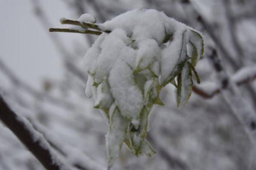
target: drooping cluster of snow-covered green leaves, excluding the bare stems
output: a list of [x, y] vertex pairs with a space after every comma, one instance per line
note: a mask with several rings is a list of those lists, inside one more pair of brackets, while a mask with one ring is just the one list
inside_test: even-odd
[[136, 156], [155, 154], [145, 140], [148, 114], [154, 104], [163, 105], [159, 93], [168, 83], [177, 87], [177, 106], [187, 103], [203, 39], [196, 30], [156, 10], [128, 11], [97, 26], [107, 33], [84, 56], [89, 73], [85, 92], [109, 125], [111, 169], [123, 143]]

